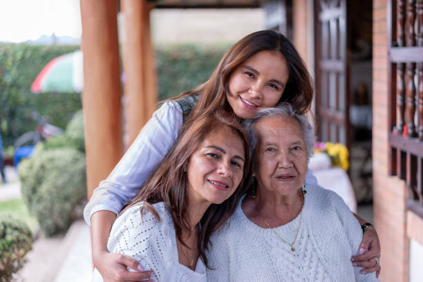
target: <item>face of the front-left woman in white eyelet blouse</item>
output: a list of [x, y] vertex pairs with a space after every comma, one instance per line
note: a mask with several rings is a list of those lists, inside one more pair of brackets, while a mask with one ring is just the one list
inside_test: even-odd
[[229, 198], [243, 178], [244, 145], [226, 126], [210, 131], [187, 165], [190, 200], [220, 204]]

